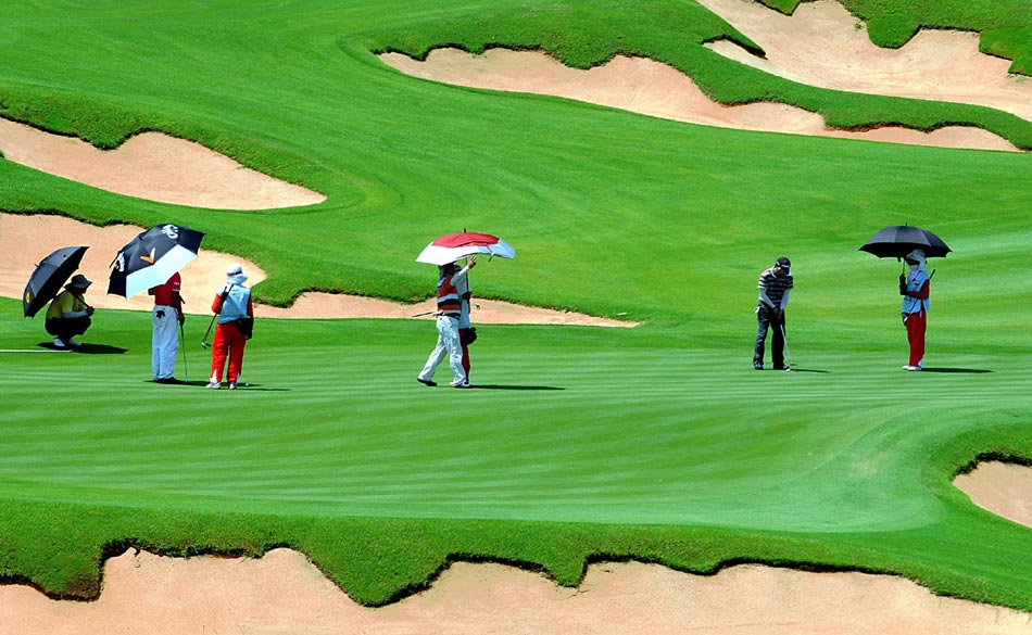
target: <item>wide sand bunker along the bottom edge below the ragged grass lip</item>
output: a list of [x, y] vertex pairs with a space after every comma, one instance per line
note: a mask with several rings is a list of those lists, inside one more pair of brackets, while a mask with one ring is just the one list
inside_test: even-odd
[[935, 597], [889, 576], [755, 566], [699, 576], [634, 562], [592, 566], [576, 589], [501, 564], [461, 562], [428, 590], [370, 609], [288, 549], [252, 560], [129, 550], [106, 562], [92, 602], [0, 587], [0, 635], [1003, 635], [1032, 632], [1030, 621], [1029, 613]]

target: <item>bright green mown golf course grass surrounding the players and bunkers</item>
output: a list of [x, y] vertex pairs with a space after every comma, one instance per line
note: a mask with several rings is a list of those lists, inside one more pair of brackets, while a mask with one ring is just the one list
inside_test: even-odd
[[[984, 109], [721, 66], [699, 46], [734, 37], [715, 16], [641, 7], [0, 7], [0, 115], [102, 147], [158, 129], [328, 195], [214, 212], [0, 161], [0, 209], [196, 227], [206, 247], [259, 262], [269, 279], [255, 292], [275, 304], [306, 289], [425, 297], [433, 270], [413, 259], [430, 238], [492, 231], [519, 253], [476, 270], [478, 295], [644, 322], [484, 326], [474, 382], [487, 388], [458, 393], [414, 381], [429, 322], [263, 320], [252, 385], [215, 393], [148, 383], [146, 316], [102, 312], [93, 355], [0, 354], [0, 576], [86, 596], [125, 545], [290, 545], [369, 604], [449, 558], [542, 567], [565, 584], [587, 559], [638, 558], [884, 571], [1032, 609], [1029, 530], [949, 484], [980, 456], [1032, 459], [1032, 157], [688, 126], [420, 81], [373, 54], [456, 42], [578, 63], [654, 53], [715, 90], [725, 75], [731, 99], [796, 91], [842, 120], [980, 117], [1018, 142], [1029, 134]], [[856, 251], [903, 223], [955, 250], [932, 262], [937, 372], [898, 370], [898, 265]], [[797, 369], [756, 373], [755, 280], [782, 254], [798, 284]], [[187, 323], [194, 382], [206, 323]], [[0, 302], [0, 348], [46, 339], [41, 320]]]

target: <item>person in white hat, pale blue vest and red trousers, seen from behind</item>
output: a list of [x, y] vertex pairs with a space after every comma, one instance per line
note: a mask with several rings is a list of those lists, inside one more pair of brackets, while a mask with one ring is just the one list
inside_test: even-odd
[[229, 390], [237, 388], [237, 380], [243, 369], [243, 348], [251, 339], [254, 326], [254, 304], [251, 290], [243, 285], [248, 277], [240, 265], [234, 263], [226, 268], [226, 285], [215, 294], [212, 310], [218, 315], [215, 339], [212, 342], [212, 377], [207, 388], [222, 388], [223, 369], [229, 359], [226, 379]]

